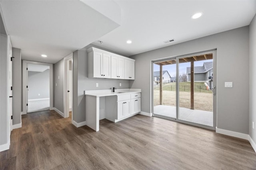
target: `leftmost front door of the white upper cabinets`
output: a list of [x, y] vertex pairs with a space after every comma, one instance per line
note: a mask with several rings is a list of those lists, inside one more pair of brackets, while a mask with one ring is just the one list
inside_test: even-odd
[[93, 77], [101, 78], [102, 76], [102, 53], [93, 52]]

